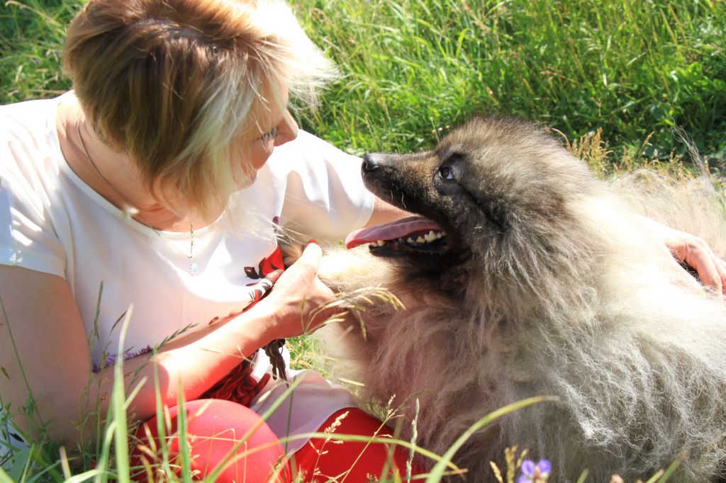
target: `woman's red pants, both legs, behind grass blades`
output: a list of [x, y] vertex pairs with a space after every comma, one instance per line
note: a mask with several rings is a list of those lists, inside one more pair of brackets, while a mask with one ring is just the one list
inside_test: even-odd
[[[298, 474], [303, 474], [303, 482], [319, 483], [335, 478], [334, 481], [338, 482], [362, 483], [370, 481], [369, 476], [381, 476], [384, 468], [388, 468], [390, 474], [398, 472], [406, 476], [409, 452], [405, 448], [381, 443], [340, 442], [335, 439], [335, 434], [393, 436], [388, 426], [383, 426], [380, 421], [358, 408], [343, 409], [330, 416], [318, 432], [325, 432], [326, 428], [334, 426], [332, 431], [329, 430], [332, 437], [311, 439], [290, 457], [290, 461], [285, 457], [282, 445], [272, 430], [256, 413], [243, 405], [226, 400], [195, 400], [187, 402], [184, 409], [187, 413], [187, 440], [195, 479], [210, 475], [236, 446], [239, 446], [237, 458], [224, 468], [218, 482], [287, 483]], [[180, 474], [177, 469], [181, 464], [178, 458], [178, 407], [171, 408], [169, 413], [171, 418], [167, 423], [171, 422], [171, 428], [166, 429], [166, 445], [169, 458], [173, 458], [171, 468]], [[242, 438], [255, 425], [258, 425], [258, 429], [240, 445]], [[152, 441], [147, 438], [147, 434], [152, 436]], [[143, 424], [137, 437], [142, 443], [134, 450], [132, 464], [146, 466], [152, 472], [160, 471], [157, 418]], [[134, 479], [160, 479], [148, 471], [144, 473], [145, 476], [139, 474]], [[412, 474], [420, 473], [414, 465]]]

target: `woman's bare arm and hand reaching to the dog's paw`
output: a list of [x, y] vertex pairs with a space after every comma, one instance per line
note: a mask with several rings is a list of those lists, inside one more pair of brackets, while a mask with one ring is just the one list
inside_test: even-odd
[[[307, 247], [268, 297], [203, 337], [186, 344], [172, 343], [148, 362], [143, 357], [126, 361], [127, 384], [137, 370], [139, 380], [147, 378], [129, 413], [142, 421], [155, 414], [154, 364], [163, 403], [174, 405], [179, 388], [187, 400], [194, 399], [259, 347], [273, 339], [303, 334], [307, 329], [301, 322], [306, 320], [301, 317], [303, 300], [309, 312], [332, 297], [316, 276], [319, 257], [319, 247]], [[113, 371], [91, 372], [87, 336], [67, 281], [2, 265], [0, 297], [7, 313], [7, 324], [0, 321], [0, 367], [7, 373], [0, 376], [2, 403], [9, 403], [15, 414], [27, 404], [30, 389], [36, 417], [31, 422], [15, 416], [15, 424], [30, 435], [45, 424], [49, 437], [69, 447], [80, 438], [88, 441], [91, 427], [80, 427], [79, 421], [96, 409], [97, 400], [100, 414], [105, 416]]]

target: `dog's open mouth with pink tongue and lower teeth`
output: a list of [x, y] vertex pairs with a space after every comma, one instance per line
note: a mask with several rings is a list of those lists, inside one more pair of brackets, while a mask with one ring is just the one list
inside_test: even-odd
[[449, 249], [446, 232], [422, 216], [409, 216], [384, 225], [356, 230], [346, 237], [346, 248], [364, 243], [375, 255], [426, 253], [441, 255]]

